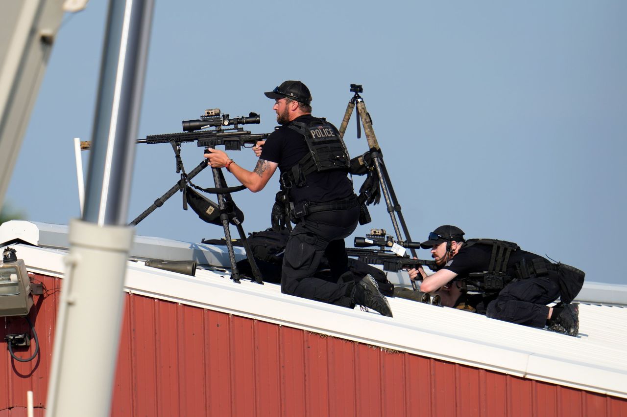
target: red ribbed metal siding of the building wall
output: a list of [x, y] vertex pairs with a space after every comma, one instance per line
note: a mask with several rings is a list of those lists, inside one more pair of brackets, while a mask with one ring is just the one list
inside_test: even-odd
[[[28, 390], [43, 417], [60, 279], [34, 278], [40, 354], [0, 359], [0, 417], [26, 416]], [[112, 415], [627, 417], [627, 400], [129, 295]]]

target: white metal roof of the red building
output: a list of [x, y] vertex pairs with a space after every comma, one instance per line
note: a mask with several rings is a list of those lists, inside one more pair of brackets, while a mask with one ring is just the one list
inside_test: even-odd
[[[65, 253], [58, 250], [26, 245], [19, 248], [18, 254], [29, 270], [58, 269], [63, 267], [65, 257]], [[627, 398], [623, 352], [607, 349], [599, 353], [601, 358], [594, 358], [590, 349], [603, 347], [586, 345], [583, 339], [403, 299], [390, 299], [395, 316], [383, 317], [376, 312], [281, 294], [280, 287], [273, 284], [262, 286], [248, 281], [234, 284], [228, 276], [198, 270], [196, 277], [189, 277], [129, 261], [125, 291], [379, 348]], [[480, 329], [480, 332], [475, 334], [469, 329]], [[536, 340], [530, 342], [531, 339]], [[566, 353], [569, 356], [560, 356], [549, 345], [556, 346], [557, 352], [564, 348], [565, 352], [570, 352]], [[614, 357], [602, 358], [604, 354]], [[616, 368], [609, 363], [616, 363]], [[621, 363], [622, 368], [618, 366]]]

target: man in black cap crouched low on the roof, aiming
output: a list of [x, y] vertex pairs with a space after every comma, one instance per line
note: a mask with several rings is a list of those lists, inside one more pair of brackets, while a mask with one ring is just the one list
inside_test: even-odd
[[[584, 272], [553, 264], [512, 242], [465, 240], [463, 235], [458, 227], [440, 226], [421, 244], [431, 250], [439, 267], [432, 275], [422, 268], [409, 271], [411, 279], [423, 280], [421, 291], [442, 288], [443, 304], [453, 307], [466, 284], [472, 284], [484, 292], [476, 307], [487, 317], [539, 328], [546, 325], [549, 330], [577, 336], [579, 306], [570, 303], [581, 290]], [[547, 306], [558, 297], [559, 304]]]

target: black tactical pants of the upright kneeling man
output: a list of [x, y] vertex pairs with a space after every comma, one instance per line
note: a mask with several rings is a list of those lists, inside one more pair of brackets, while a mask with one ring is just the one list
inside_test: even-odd
[[[359, 219], [359, 205], [304, 217], [292, 230], [283, 255], [281, 291], [292, 296], [354, 307], [350, 292], [354, 282], [337, 282], [348, 270], [344, 238]], [[314, 277], [322, 255], [329, 260], [333, 281]]]

